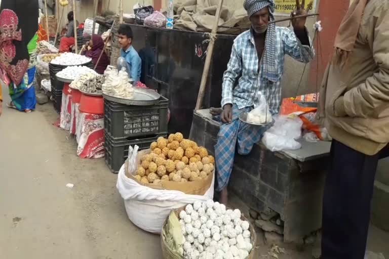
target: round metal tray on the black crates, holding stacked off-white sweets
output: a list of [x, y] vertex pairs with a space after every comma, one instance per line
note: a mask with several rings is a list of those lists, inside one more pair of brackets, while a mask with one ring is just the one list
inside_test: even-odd
[[151, 89], [135, 88], [135, 93], [132, 99], [123, 99], [114, 96], [103, 94], [103, 97], [108, 101], [121, 103], [125, 105], [148, 106], [157, 104], [161, 95]]

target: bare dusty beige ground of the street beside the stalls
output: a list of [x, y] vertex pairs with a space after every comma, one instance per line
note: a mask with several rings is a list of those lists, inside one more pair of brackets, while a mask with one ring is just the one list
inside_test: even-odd
[[[5, 101], [8, 101], [4, 89]], [[5, 103], [4, 103], [5, 106]], [[116, 175], [104, 159], [80, 159], [76, 142], [55, 126], [52, 103], [0, 117], [0, 251], [2, 258], [126, 259], [161, 256], [160, 237], [127, 218]], [[72, 189], [66, 184], [74, 184]], [[369, 248], [389, 258], [389, 235], [372, 228]], [[258, 255], [269, 246], [260, 242]], [[260, 257], [266, 258], [267, 256]], [[287, 249], [280, 258], [312, 258]]]

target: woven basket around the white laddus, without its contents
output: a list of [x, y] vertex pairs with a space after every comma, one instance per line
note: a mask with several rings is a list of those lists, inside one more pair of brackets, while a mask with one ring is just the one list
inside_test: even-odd
[[[180, 214], [181, 210], [184, 210], [184, 209], [185, 209], [185, 206], [181, 207], [179, 209], [173, 210], [174, 213], [177, 215], [177, 218], [179, 218], [179, 214]], [[230, 209], [230, 208], [227, 208], [227, 209]], [[168, 246], [168, 244], [166, 243], [166, 240], [164, 238], [163, 232], [164, 232], [165, 228], [167, 228], [168, 219], [169, 219], [169, 217], [165, 220], [164, 225], [162, 226], [162, 232], [161, 232], [162, 257], [164, 259], [183, 259], [184, 258], [183, 256], [181, 256], [177, 252], [173, 251]], [[255, 229], [254, 229], [253, 225], [250, 223], [250, 221], [248, 221], [247, 218], [243, 214], [242, 214], [241, 220], [247, 221], [250, 224], [249, 230], [251, 233], [251, 244], [253, 245], [253, 250], [251, 250], [249, 257], [247, 257], [246, 259], [257, 259], [257, 257], [255, 257], [256, 256], [255, 255], [255, 245], [257, 243], [257, 234], [255, 232]]]

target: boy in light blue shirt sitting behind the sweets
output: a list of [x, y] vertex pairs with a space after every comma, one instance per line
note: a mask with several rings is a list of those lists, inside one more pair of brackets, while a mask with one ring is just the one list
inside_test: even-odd
[[134, 80], [134, 85], [140, 80], [142, 60], [138, 52], [132, 47], [132, 29], [128, 24], [121, 24], [118, 30], [119, 44], [122, 47], [121, 56], [127, 62], [128, 76]]

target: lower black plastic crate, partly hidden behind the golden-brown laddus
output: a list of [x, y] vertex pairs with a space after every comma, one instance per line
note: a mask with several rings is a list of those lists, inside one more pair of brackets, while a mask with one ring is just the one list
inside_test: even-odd
[[117, 174], [128, 158], [129, 146], [139, 146], [139, 150], [150, 148], [150, 144], [157, 141], [159, 137], [166, 138], [167, 135], [159, 135], [153, 138], [143, 139], [112, 139], [108, 134], [105, 134], [105, 163], [109, 169]]

